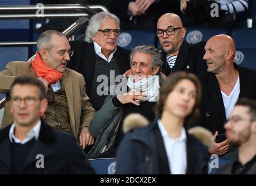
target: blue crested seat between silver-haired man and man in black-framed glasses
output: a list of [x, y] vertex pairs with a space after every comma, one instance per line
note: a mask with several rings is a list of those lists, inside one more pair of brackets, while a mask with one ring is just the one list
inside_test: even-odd
[[118, 46], [131, 50], [138, 45], [155, 46], [156, 36], [153, 31], [123, 30], [118, 37]]

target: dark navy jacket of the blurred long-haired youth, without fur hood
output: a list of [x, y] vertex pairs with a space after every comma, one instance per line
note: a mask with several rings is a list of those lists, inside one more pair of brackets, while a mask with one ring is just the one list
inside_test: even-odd
[[[166, 174], [168, 158], [161, 137], [155, 133], [157, 121], [147, 127], [136, 128], [127, 133], [118, 147], [117, 174]], [[207, 174], [209, 154], [193, 135], [187, 135], [186, 174]], [[161, 173], [162, 171], [162, 173]]]

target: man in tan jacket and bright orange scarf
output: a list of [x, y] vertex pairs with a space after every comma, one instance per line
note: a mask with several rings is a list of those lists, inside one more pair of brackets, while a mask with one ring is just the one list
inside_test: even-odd
[[[49, 105], [42, 117], [57, 130], [73, 134], [80, 145], [93, 144], [88, 131], [95, 110], [86, 95], [85, 82], [81, 74], [66, 68], [73, 52], [69, 41], [55, 30], [45, 31], [37, 40], [37, 52], [32, 61], [9, 62], [0, 72], [0, 92], [6, 93], [2, 126], [12, 123], [10, 113], [10, 85], [18, 76], [37, 77], [44, 84]], [[79, 131], [81, 130], [81, 133]]]

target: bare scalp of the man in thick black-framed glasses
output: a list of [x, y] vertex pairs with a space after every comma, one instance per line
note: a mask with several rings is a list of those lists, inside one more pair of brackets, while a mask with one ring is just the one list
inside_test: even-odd
[[159, 17], [157, 27], [158, 24], [162, 24], [163, 22], [172, 23], [173, 27], [183, 27], [182, 19], [180, 19], [180, 17], [175, 13], [165, 13], [164, 15]]

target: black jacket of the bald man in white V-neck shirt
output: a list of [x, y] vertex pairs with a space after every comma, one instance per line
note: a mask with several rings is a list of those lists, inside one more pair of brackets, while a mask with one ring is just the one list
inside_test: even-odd
[[[256, 71], [247, 69], [234, 63], [239, 72], [240, 94], [239, 98], [256, 100]], [[205, 72], [198, 76], [202, 84], [202, 101], [200, 119], [197, 124], [207, 128], [213, 134], [225, 134], [224, 122], [226, 120], [224, 103], [218, 80], [213, 73]]]

